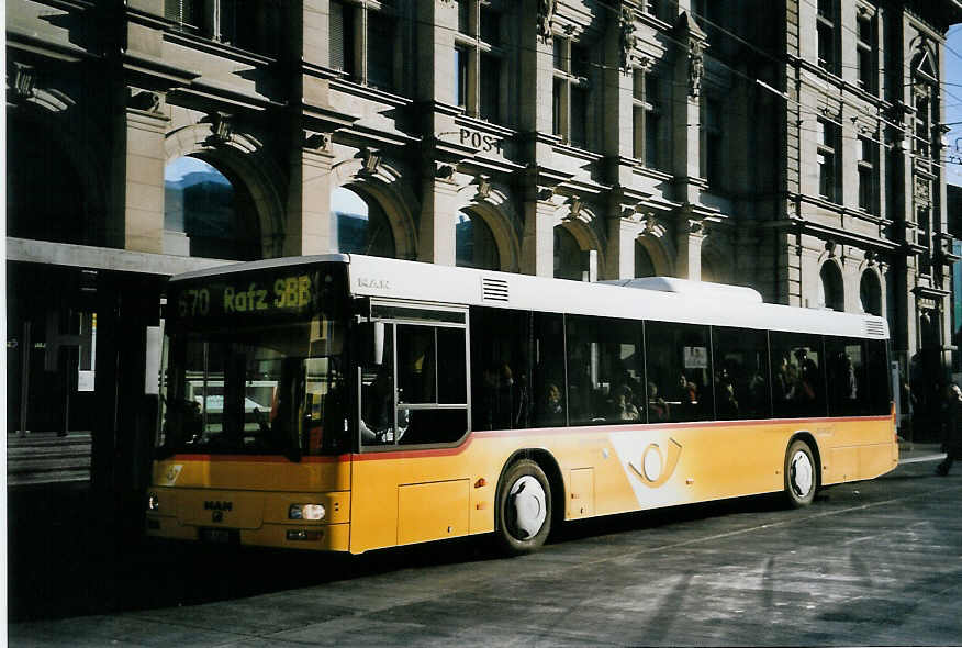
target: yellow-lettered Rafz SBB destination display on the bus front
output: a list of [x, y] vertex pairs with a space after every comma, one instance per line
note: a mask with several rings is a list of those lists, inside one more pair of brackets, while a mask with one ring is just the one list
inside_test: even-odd
[[344, 269], [299, 267], [201, 278], [171, 284], [177, 320], [242, 321], [338, 309]]

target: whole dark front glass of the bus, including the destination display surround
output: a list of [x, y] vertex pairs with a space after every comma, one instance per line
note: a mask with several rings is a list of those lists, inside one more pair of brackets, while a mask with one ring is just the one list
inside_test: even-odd
[[[165, 340], [158, 431], [164, 454], [299, 460], [349, 449], [343, 300], [329, 292], [326, 303], [312, 299], [311, 287], [323, 286], [325, 277], [307, 277], [297, 308], [281, 308], [280, 300], [293, 303], [290, 294], [298, 295], [284, 295], [286, 278], [245, 275], [171, 289], [176, 309]], [[280, 297], [266, 298], [269, 306], [261, 312], [238, 313], [239, 302], [230, 303], [245, 294], [236, 286], [253, 287], [247, 293], [256, 294], [275, 282]]]

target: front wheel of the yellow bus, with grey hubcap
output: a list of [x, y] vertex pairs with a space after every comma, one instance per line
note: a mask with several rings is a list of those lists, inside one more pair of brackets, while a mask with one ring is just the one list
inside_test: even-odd
[[497, 484], [495, 534], [510, 556], [529, 554], [551, 533], [551, 485], [541, 467], [529, 459], [512, 463]]

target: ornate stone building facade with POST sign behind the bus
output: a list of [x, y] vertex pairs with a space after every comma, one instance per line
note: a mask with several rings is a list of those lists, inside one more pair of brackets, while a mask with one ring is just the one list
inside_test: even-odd
[[958, 0], [11, 0], [8, 427], [141, 451], [164, 278], [337, 250], [747, 284], [885, 314], [905, 372], [941, 371], [959, 21]]

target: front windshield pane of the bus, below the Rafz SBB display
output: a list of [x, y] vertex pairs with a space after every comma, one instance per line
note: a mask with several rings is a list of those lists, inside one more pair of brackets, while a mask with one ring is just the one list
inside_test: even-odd
[[310, 323], [175, 338], [161, 390], [164, 445], [205, 453], [343, 449], [339, 356], [314, 356], [311, 342]]

